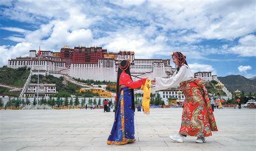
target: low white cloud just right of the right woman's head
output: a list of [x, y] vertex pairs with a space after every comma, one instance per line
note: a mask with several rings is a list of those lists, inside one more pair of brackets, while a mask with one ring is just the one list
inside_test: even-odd
[[191, 68], [191, 71], [193, 73], [196, 73], [198, 71], [211, 71], [213, 75], [217, 75], [215, 69], [209, 64], [191, 63], [188, 64], [188, 66]]

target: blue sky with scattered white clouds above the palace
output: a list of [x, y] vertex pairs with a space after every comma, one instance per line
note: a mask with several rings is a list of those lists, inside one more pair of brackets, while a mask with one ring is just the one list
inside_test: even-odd
[[[255, 1], [0, 1], [0, 66], [65, 45], [186, 55], [193, 72], [256, 76]], [[172, 66], [174, 64], [172, 63]]]

